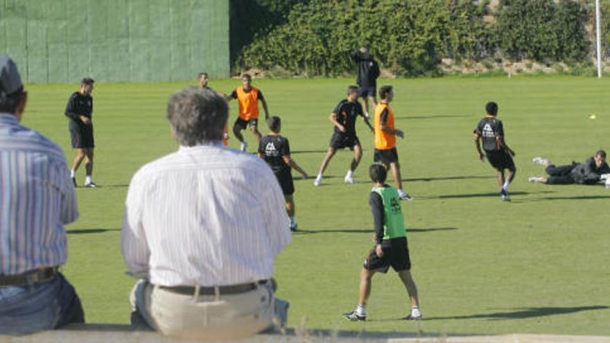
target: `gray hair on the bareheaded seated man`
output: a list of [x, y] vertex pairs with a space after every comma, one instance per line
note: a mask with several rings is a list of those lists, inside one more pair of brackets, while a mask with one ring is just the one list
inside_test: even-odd
[[227, 100], [210, 89], [186, 87], [167, 104], [167, 119], [182, 146], [222, 141], [228, 116]]

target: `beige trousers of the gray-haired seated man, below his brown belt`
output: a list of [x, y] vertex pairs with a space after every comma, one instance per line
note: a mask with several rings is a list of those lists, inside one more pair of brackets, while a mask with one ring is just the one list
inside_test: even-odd
[[272, 324], [275, 309], [270, 283], [241, 294], [185, 295], [141, 281], [130, 300], [156, 331], [189, 340], [250, 337]]

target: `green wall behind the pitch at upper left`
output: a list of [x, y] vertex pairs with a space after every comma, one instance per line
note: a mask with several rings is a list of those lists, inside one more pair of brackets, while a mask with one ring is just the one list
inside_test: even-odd
[[0, 0], [0, 55], [27, 82], [229, 76], [229, 0]]

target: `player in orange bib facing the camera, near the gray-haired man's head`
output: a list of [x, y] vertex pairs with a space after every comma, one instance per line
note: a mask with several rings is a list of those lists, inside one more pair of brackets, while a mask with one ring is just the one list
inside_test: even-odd
[[261, 143], [261, 133], [257, 128], [259, 123], [259, 100], [263, 103], [265, 121], [269, 118], [269, 110], [263, 93], [256, 87], [252, 87], [252, 76], [243, 74], [241, 80], [243, 85], [237, 87], [230, 96], [227, 96], [227, 100], [237, 99], [239, 101], [239, 117], [233, 124], [233, 134], [241, 141], [240, 149], [245, 151], [247, 142], [243, 139], [241, 131], [245, 130], [247, 125], [250, 125], [250, 131], [256, 137], [256, 141]]

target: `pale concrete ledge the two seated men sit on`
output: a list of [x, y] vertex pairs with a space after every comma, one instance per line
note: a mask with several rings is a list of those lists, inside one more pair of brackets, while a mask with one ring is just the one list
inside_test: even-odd
[[[152, 331], [138, 331], [129, 325], [80, 324], [62, 330], [44, 331], [33, 335], [0, 335], [0, 343], [188, 343], [159, 335]], [[568, 335], [433, 335], [401, 332], [330, 331], [289, 328], [284, 333], [260, 334], [235, 343], [610, 343], [607, 336]]]

